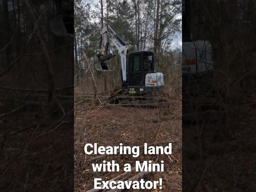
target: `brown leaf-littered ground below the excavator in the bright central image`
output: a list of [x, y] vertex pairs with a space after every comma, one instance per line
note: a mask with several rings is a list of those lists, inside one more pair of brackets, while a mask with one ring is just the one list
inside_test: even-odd
[[[115, 160], [122, 165], [136, 160], [164, 160], [164, 172], [147, 174], [145, 180], [163, 179], [162, 190], [144, 190], [154, 192], [177, 192], [182, 187], [182, 102], [181, 98], [170, 100], [165, 108], [141, 108], [100, 105], [83, 102], [75, 106], [74, 123], [74, 188], [85, 192], [93, 188], [94, 178], [111, 180], [123, 172], [93, 172], [92, 163], [103, 160]], [[144, 155], [133, 158], [132, 155], [108, 155], [90, 161], [98, 155], [86, 155], [86, 143], [98, 143], [98, 146], [118, 146], [119, 143], [130, 146], [141, 146], [145, 142], [166, 146], [172, 142], [172, 155]], [[130, 172], [124, 180], [134, 176]], [[122, 179], [121, 179], [122, 180]], [[128, 191], [128, 190], [126, 190]], [[140, 190], [129, 190], [140, 191]]]

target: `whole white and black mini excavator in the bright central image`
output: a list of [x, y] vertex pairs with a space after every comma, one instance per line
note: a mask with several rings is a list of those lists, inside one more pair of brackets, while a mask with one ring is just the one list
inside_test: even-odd
[[[97, 51], [98, 71], [111, 71], [106, 64], [115, 55], [109, 53], [110, 41], [118, 50], [120, 56], [122, 90], [112, 96], [112, 101], [118, 104], [152, 105], [162, 101], [164, 93], [164, 76], [155, 72], [155, 55], [152, 51], [136, 51], [128, 54], [126, 43], [106, 25], [102, 28], [100, 45]], [[113, 99], [114, 98], [114, 99]], [[128, 103], [128, 104], [127, 104]]]

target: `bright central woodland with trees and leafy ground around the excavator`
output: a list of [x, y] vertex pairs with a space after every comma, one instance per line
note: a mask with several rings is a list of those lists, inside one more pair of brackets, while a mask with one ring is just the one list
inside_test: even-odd
[[[99, 191], [93, 189], [93, 178], [98, 177], [120, 182], [164, 178], [162, 191], [181, 191], [181, 0], [75, 0], [74, 4], [75, 191]], [[118, 48], [111, 42], [109, 52], [116, 55], [106, 62], [111, 71], [97, 70], [97, 53], [105, 25], [125, 42], [128, 53], [154, 52], [155, 72], [164, 75], [164, 93], [161, 93], [164, 100], [153, 97], [156, 106], [148, 107], [149, 95], [138, 96], [146, 98], [145, 104], [136, 100], [128, 104], [116, 103], [116, 99], [109, 102], [122, 92], [123, 76]], [[121, 97], [129, 96], [123, 93]], [[91, 163], [103, 160], [114, 160], [121, 166], [125, 162], [134, 164], [135, 158], [131, 155], [84, 157], [81, 151], [87, 143], [105, 147], [122, 143], [141, 148], [144, 143], [164, 146], [170, 141], [173, 142], [173, 154], [140, 155], [136, 158], [141, 162], [150, 159], [154, 163], [165, 161], [164, 172], [149, 172], [142, 176], [134, 171], [92, 170]]]

